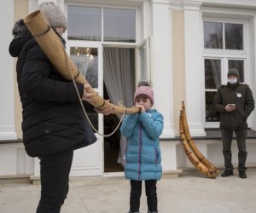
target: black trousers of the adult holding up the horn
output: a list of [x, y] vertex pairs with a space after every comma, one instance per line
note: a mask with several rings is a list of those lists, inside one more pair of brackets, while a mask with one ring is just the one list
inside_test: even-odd
[[60, 213], [67, 198], [73, 149], [40, 158], [41, 199], [37, 213]]

